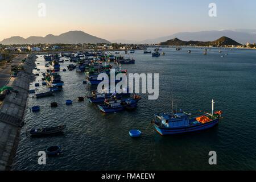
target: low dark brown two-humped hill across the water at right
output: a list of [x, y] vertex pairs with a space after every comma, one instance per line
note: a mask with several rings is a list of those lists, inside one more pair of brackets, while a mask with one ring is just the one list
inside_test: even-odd
[[227, 38], [226, 36], [222, 36], [220, 39], [214, 40], [214, 41], [208, 41], [208, 42], [202, 42], [202, 41], [183, 41], [178, 38], [174, 38], [171, 40], [167, 40], [166, 42], [160, 43], [161, 46], [240, 46], [241, 44]]

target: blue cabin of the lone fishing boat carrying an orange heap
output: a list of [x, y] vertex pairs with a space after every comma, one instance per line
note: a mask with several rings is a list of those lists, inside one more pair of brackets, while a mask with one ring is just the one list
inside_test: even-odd
[[155, 114], [155, 123], [162, 127], [181, 127], [189, 125], [190, 115], [184, 112], [181, 113], [162, 113]]

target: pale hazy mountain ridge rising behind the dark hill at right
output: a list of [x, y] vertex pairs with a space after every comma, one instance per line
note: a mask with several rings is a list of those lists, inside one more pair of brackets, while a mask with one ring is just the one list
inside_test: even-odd
[[170, 36], [164, 36], [155, 39], [143, 40], [141, 43], [160, 43], [166, 40], [179, 38], [181, 40], [199, 40], [203, 42], [213, 41], [221, 36], [229, 37], [230, 39], [236, 40], [241, 44], [247, 42], [256, 42], [256, 30], [213, 30], [213, 31], [199, 31], [199, 32], [179, 32]]

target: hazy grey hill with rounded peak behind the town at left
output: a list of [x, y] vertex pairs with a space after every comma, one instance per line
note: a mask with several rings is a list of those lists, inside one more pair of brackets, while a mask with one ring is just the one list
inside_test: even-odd
[[36, 44], [36, 43], [63, 43], [63, 44], [79, 44], [79, 43], [110, 43], [108, 40], [97, 38], [86, 34], [83, 31], [69, 31], [59, 36], [49, 34], [45, 37], [30, 36], [24, 39], [20, 36], [13, 36], [11, 38], [3, 39], [0, 44]]

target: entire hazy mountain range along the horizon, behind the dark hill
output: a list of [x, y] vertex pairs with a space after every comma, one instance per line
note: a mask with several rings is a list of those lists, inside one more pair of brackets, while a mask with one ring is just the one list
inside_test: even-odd
[[[229, 37], [234, 39], [241, 44], [246, 44], [247, 42], [255, 43], [256, 42], [256, 30], [246, 30], [246, 29], [237, 29], [237, 30], [214, 30], [214, 31], [199, 31], [199, 32], [179, 32], [170, 36], [163, 36], [155, 39], [147, 40], [125, 40], [125, 39], [116, 39], [112, 40], [112, 43], [155, 43], [165, 42], [166, 40], [171, 40], [174, 38], [179, 38], [184, 41], [197, 40], [201, 42], [214, 41], [222, 36]], [[77, 43], [110, 43], [108, 40], [98, 38], [86, 34], [82, 31], [69, 31], [59, 36], [49, 34], [45, 37], [42, 36], [30, 36], [27, 39], [24, 39], [20, 36], [13, 36], [11, 38], [3, 39], [0, 44], [35, 44], [35, 43], [64, 43], [64, 44], [77, 44]]]

